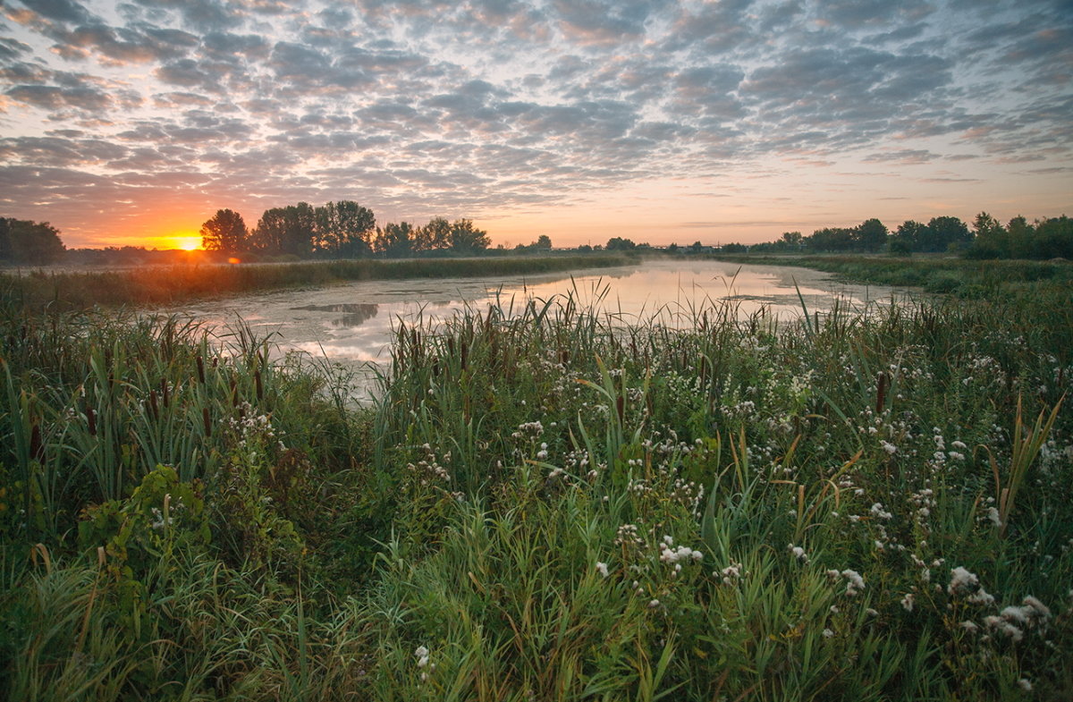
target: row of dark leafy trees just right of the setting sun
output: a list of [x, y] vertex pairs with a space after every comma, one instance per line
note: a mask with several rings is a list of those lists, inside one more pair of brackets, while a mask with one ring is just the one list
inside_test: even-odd
[[487, 250], [491, 244], [488, 233], [470, 219], [449, 222], [433, 217], [424, 225], [403, 221], [381, 228], [371, 209], [349, 200], [320, 207], [304, 202], [273, 207], [261, 215], [253, 229], [247, 228], [238, 213], [220, 209], [202, 224], [201, 236], [202, 248], [209, 251], [290, 254], [299, 259], [472, 254]]

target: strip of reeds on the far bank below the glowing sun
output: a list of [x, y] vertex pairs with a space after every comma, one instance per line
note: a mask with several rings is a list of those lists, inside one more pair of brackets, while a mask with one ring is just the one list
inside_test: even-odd
[[174, 304], [193, 297], [352, 280], [521, 276], [636, 263], [626, 254], [530, 255], [482, 259], [399, 259], [251, 265], [185, 264], [116, 270], [34, 270], [0, 274], [0, 301], [32, 309], [86, 309]]

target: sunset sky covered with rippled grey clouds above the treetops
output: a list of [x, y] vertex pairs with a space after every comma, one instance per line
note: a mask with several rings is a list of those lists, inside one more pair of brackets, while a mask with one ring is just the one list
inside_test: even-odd
[[1073, 215], [1073, 1], [0, 0], [0, 216], [338, 200], [509, 248]]

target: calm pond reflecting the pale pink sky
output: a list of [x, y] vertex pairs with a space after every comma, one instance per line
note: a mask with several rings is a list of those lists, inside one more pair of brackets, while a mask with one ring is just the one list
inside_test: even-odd
[[[798, 293], [800, 296], [798, 296]], [[828, 274], [792, 266], [739, 265], [719, 261], [649, 260], [631, 266], [542, 274], [531, 277], [407, 279], [352, 282], [197, 302], [181, 309], [218, 328], [241, 320], [260, 336], [271, 335], [280, 353], [298, 351], [356, 372], [355, 393], [368, 395], [379, 364], [389, 359], [400, 320], [442, 320], [470, 306], [497, 301], [520, 308], [529, 298], [573, 294], [582, 305], [613, 313], [619, 323], [660, 316], [666, 325], [692, 323], [691, 309], [732, 299], [738, 315], [764, 310], [790, 320], [829, 309], [890, 301], [895, 290], [837, 282]], [[358, 398], [359, 399], [359, 398]]]

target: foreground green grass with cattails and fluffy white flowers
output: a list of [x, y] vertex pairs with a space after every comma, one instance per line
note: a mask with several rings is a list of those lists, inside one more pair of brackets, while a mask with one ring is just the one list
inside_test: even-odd
[[[905, 264], [910, 265], [910, 264]], [[1070, 290], [400, 327], [0, 318], [5, 699], [1063, 700]]]

